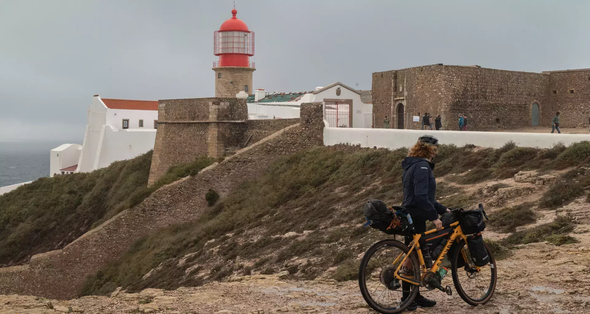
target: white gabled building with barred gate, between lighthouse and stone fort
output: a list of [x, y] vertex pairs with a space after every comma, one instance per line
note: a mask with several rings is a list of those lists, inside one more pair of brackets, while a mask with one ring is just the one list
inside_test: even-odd
[[[365, 94], [363, 93], [363, 97]], [[248, 116], [251, 120], [299, 118], [302, 103], [323, 102], [324, 119], [330, 127], [372, 127], [373, 106], [361, 100], [360, 91], [340, 82], [317, 87], [315, 91], [309, 92], [266, 92], [258, 88], [254, 95], [248, 96], [245, 92], [240, 92], [236, 97], [247, 98]]]

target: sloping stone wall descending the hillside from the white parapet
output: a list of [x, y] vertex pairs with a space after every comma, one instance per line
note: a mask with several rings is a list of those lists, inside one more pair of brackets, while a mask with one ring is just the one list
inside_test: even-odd
[[226, 196], [244, 181], [259, 177], [277, 158], [322, 146], [323, 128], [322, 103], [302, 104], [299, 124], [244, 148], [194, 177], [160, 188], [64, 249], [37, 254], [28, 265], [0, 269], [0, 294], [76, 298], [86, 276], [119, 259], [139, 237], [197, 219], [207, 207], [205, 193], [210, 188]]

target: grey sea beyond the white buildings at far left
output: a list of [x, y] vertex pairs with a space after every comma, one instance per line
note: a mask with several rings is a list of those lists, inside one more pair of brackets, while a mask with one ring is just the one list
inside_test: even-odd
[[49, 176], [50, 151], [81, 140], [0, 141], [0, 187]]

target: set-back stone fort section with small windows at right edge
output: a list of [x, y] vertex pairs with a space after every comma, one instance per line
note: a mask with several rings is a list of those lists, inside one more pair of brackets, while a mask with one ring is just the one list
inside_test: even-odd
[[[573, 88], [573, 94], [569, 89]], [[556, 91], [557, 94], [553, 94]], [[590, 116], [590, 70], [549, 72], [550, 105], [543, 111], [546, 124], [560, 111], [562, 127], [588, 127]]]

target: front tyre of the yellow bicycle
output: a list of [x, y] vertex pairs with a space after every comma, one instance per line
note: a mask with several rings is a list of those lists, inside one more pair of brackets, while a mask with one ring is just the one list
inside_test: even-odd
[[[464, 247], [468, 253], [467, 245], [463, 239], [461, 239], [461, 241], [457, 243], [457, 246], [455, 247], [455, 250], [453, 251], [453, 256], [451, 258], [451, 270], [453, 270], [453, 283], [455, 285], [455, 289], [457, 290], [457, 293], [459, 294], [461, 299], [463, 299], [468, 305], [471, 305], [471, 306], [477, 306], [477, 305], [482, 305], [482, 304], [487, 303], [491, 299], [491, 297], [494, 295], [494, 291], [496, 290], [496, 283], [497, 283], [496, 259], [494, 259], [494, 255], [491, 253], [490, 248], [487, 246], [487, 244], [484, 243], [484, 245], [486, 246], [487, 253], [490, 255], [490, 262], [488, 263], [488, 265], [483, 266], [483, 267], [490, 267], [491, 275], [490, 275], [490, 285], [488, 287], [487, 293], [484, 295], [483, 298], [479, 298], [479, 299], [471, 298], [470, 296], [467, 295], [467, 293], [463, 289], [463, 286], [460, 283], [459, 272], [457, 269], [457, 260], [458, 260], [458, 258], [463, 259], [463, 256], [461, 255], [461, 248]], [[463, 262], [463, 261], [461, 261], [461, 262]], [[466, 267], [469, 267], [469, 266], [461, 267], [461, 269], [465, 269], [466, 273], [467, 273]], [[476, 287], [477, 287], [477, 280], [476, 280]]]

